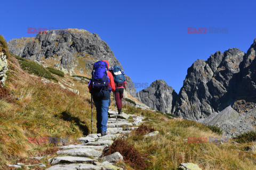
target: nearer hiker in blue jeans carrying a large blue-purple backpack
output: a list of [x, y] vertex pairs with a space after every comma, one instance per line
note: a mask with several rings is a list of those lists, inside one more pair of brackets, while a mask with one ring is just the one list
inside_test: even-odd
[[106, 60], [94, 63], [92, 78], [88, 84], [97, 112], [97, 133], [101, 133], [101, 136], [107, 134], [110, 91], [116, 90], [113, 75], [108, 68], [109, 63]]

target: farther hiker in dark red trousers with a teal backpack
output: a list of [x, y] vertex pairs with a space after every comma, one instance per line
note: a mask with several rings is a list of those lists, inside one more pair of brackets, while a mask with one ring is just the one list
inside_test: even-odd
[[124, 71], [121, 69], [121, 66], [115, 65], [110, 68], [110, 72], [113, 74], [114, 82], [115, 82], [115, 100], [118, 114], [122, 114], [122, 98], [124, 94], [124, 89], [126, 89], [126, 81], [124, 76]]

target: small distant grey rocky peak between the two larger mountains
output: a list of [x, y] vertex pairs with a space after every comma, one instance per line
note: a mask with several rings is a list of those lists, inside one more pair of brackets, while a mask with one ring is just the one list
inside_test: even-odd
[[172, 113], [178, 94], [164, 80], [156, 80], [147, 89], [137, 92], [136, 97], [143, 104], [164, 113]]

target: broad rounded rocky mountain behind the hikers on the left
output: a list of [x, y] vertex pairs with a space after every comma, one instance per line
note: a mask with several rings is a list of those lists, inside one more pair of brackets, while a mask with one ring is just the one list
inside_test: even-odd
[[[34, 38], [12, 39], [8, 43], [11, 53], [55, 67], [70, 75], [91, 75], [92, 64], [108, 60], [110, 65], [121, 65], [107, 43], [99, 35], [83, 29], [49, 30]], [[121, 65], [122, 67], [122, 65]], [[135, 96], [130, 77], [127, 91]]]

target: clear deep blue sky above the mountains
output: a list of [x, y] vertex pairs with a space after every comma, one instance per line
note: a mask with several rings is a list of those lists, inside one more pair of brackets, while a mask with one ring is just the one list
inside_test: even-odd
[[[2, 0], [1, 5], [0, 33], [7, 41], [34, 37], [28, 27], [85, 29], [107, 42], [133, 82], [163, 79], [177, 92], [198, 58], [233, 47], [247, 52], [256, 38], [255, 1]], [[188, 27], [208, 30], [188, 33]]]

